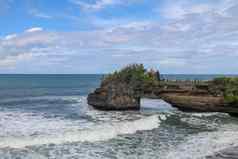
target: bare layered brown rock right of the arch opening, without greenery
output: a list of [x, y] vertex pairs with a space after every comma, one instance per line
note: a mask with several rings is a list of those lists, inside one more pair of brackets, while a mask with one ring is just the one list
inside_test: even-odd
[[[213, 86], [208, 83], [188, 84], [183, 81], [177, 82], [177, 86], [169, 88], [164, 84], [159, 93], [159, 98], [173, 107], [188, 112], [224, 112], [232, 116], [238, 116], [238, 107], [227, 103], [224, 96], [218, 93]], [[173, 84], [176, 85], [176, 84]]]

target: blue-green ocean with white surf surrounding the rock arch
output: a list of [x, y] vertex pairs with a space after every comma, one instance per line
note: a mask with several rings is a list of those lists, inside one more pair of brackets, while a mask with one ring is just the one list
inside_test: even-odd
[[87, 94], [102, 77], [0, 75], [0, 159], [200, 159], [238, 144], [238, 120], [223, 113], [159, 99], [142, 99], [140, 111], [95, 110]]

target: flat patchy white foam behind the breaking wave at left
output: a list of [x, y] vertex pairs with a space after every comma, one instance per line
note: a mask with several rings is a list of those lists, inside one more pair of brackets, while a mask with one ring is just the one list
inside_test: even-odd
[[61, 118], [45, 118], [44, 114], [40, 113], [3, 111], [0, 112], [0, 139], [8, 136], [63, 133], [86, 127], [83, 122], [85, 122], [83, 119], [72, 122]]

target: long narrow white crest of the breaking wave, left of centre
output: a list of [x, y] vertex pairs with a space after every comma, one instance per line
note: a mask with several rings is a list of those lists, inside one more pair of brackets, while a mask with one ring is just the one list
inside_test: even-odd
[[[39, 120], [40, 125], [42, 123], [45, 123], [42, 122], [42, 120], [44, 119]], [[65, 122], [56, 120], [55, 122], [47, 124], [47, 126], [43, 126], [46, 129], [46, 132], [49, 131], [49, 134], [40, 133], [40, 135], [25, 134], [21, 136], [4, 136], [0, 139], [0, 148], [24, 148], [27, 146], [37, 146], [44, 144], [104, 141], [115, 138], [118, 135], [134, 134], [137, 131], [142, 130], [152, 130], [154, 128], [157, 128], [159, 126], [159, 123], [160, 120], [158, 115], [153, 115], [149, 117], [143, 117], [139, 120], [105, 123], [78, 130], [75, 125], [72, 126], [72, 124], [70, 125], [69, 123], [67, 123], [67, 121]], [[26, 125], [24, 125], [23, 127], [24, 129], [26, 129]], [[31, 129], [28, 128], [27, 130], [25, 130], [26, 132], [31, 131]], [[12, 128], [12, 130], [15, 129]], [[59, 130], [59, 132], [57, 132], [57, 130]]]

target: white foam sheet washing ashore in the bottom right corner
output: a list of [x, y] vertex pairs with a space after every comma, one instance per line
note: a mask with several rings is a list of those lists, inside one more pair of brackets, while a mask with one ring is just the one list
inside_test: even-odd
[[167, 159], [201, 159], [238, 144], [237, 125], [226, 125], [215, 132], [204, 132], [186, 138], [185, 142], [171, 149]]

